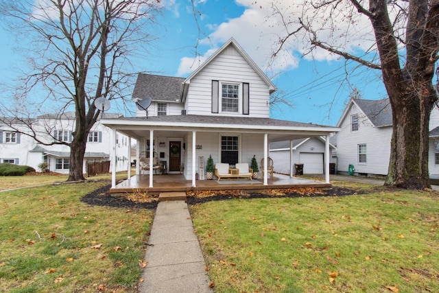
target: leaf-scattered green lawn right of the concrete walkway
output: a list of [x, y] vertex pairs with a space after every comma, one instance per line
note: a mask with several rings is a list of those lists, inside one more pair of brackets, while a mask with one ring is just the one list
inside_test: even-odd
[[382, 191], [191, 213], [215, 292], [439, 292], [438, 200]]

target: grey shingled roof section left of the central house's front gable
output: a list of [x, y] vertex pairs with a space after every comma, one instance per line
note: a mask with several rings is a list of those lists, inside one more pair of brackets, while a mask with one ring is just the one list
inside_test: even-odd
[[185, 78], [139, 73], [132, 99], [150, 97], [154, 101], [176, 102]]

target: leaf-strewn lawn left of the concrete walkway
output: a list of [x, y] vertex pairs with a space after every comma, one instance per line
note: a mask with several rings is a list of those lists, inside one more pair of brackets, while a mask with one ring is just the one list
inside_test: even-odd
[[108, 184], [0, 193], [0, 292], [136, 292], [153, 214], [80, 202]]

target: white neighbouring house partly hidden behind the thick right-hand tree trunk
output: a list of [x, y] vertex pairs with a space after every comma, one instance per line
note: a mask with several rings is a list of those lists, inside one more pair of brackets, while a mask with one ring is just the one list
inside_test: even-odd
[[[430, 176], [439, 175], [438, 126], [439, 110], [434, 107], [429, 125]], [[361, 176], [388, 174], [393, 131], [389, 99], [351, 99], [337, 127], [337, 172]]]

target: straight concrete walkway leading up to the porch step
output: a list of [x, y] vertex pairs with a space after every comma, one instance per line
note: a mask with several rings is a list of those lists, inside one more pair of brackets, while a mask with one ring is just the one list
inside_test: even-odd
[[139, 292], [213, 292], [200, 243], [183, 200], [159, 202]]

